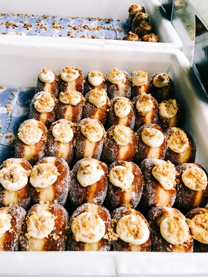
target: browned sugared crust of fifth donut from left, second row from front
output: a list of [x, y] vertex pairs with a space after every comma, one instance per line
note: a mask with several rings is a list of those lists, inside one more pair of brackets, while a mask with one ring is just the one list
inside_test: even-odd
[[152, 170], [156, 165], [157, 159], [145, 159], [140, 164], [145, 185], [139, 207], [144, 212], [157, 206], [172, 207], [176, 198], [176, 184], [173, 189], [165, 190], [152, 175]]

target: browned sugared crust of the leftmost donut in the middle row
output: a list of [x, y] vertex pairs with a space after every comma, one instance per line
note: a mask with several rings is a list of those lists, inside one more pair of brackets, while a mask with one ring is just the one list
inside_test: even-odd
[[[19, 128], [21, 128], [23, 124], [25, 124], [25, 122], [27, 122], [27, 120], [22, 122]], [[31, 165], [37, 163], [39, 159], [43, 159], [43, 157], [45, 156], [48, 130], [42, 122], [38, 122], [38, 128], [43, 131], [42, 137], [38, 143], [27, 145], [17, 137], [14, 158], [24, 159], [28, 161]]]

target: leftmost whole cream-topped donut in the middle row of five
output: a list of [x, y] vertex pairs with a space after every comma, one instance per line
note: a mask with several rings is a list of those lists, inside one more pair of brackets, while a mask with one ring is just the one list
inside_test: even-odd
[[46, 126], [35, 119], [28, 119], [19, 126], [14, 158], [25, 159], [31, 165], [45, 156]]

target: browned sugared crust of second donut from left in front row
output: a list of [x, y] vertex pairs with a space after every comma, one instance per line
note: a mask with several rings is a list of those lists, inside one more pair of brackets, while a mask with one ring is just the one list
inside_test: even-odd
[[[50, 212], [55, 216], [54, 229], [44, 239], [34, 239], [26, 236], [28, 218], [39, 210]], [[69, 216], [67, 211], [59, 204], [47, 203], [36, 204], [30, 208], [22, 228], [20, 244], [22, 251], [65, 251], [66, 235], [68, 229]], [[35, 243], [35, 241], [40, 243]]]

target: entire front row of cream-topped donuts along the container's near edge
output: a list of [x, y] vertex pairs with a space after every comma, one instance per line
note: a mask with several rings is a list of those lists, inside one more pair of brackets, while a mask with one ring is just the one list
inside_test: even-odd
[[[0, 209], [2, 251], [207, 252], [207, 208], [186, 217], [175, 208], [152, 208], [147, 220], [128, 207], [109, 211], [85, 203], [69, 219], [64, 207], [36, 204]], [[193, 239], [194, 238], [194, 239]]]

